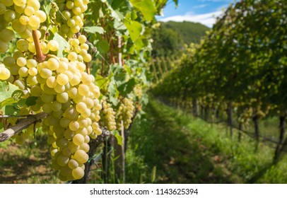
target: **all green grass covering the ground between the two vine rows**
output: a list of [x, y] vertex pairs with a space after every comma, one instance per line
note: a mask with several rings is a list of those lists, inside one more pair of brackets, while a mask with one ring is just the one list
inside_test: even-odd
[[[223, 124], [208, 124], [182, 110], [156, 100], [146, 107], [146, 119], [136, 120], [129, 149], [134, 153], [127, 165], [129, 182], [151, 182], [156, 167], [157, 183], [287, 183], [286, 158], [272, 164], [274, 148], [237, 133], [230, 139]], [[140, 159], [140, 161], [139, 161]], [[129, 174], [131, 173], [131, 174]]]

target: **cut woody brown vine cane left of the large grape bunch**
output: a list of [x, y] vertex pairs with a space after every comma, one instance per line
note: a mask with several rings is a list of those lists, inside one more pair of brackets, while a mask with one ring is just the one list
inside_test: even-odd
[[45, 117], [47, 117], [47, 113], [40, 112], [36, 115], [30, 115], [29, 117], [20, 119], [15, 126], [6, 129], [4, 132], [0, 134], [0, 142], [6, 141], [7, 139], [11, 138], [11, 136], [18, 134], [19, 132], [22, 132], [23, 129], [27, 129], [30, 125], [40, 122]]

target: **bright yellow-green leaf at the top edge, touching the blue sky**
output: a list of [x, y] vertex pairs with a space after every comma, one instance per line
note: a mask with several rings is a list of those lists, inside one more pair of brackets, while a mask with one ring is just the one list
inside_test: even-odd
[[146, 21], [152, 21], [156, 15], [156, 6], [152, 0], [130, 0], [131, 4], [137, 8], [146, 18]]

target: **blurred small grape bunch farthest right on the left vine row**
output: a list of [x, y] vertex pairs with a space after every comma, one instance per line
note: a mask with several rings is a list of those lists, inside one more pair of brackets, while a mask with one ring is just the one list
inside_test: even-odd
[[129, 98], [123, 98], [116, 113], [117, 130], [122, 129], [122, 121], [124, 123], [124, 129], [128, 129], [131, 124], [131, 119], [134, 117], [134, 103]]

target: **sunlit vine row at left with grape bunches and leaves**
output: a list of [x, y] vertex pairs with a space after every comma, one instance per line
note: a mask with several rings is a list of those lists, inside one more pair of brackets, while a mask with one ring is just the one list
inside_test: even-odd
[[0, 0], [0, 141], [44, 132], [63, 181], [87, 181], [107, 136], [121, 153], [148, 102], [151, 31], [166, 3]]

